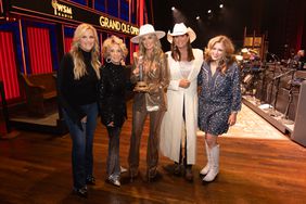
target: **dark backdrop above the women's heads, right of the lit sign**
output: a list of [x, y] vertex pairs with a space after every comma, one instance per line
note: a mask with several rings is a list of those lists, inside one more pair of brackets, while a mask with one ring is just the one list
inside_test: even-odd
[[[229, 36], [238, 49], [243, 46], [244, 28], [248, 34], [267, 36], [268, 51], [280, 59], [290, 50], [306, 49], [305, 0], [153, 0], [156, 29], [169, 30], [184, 22], [197, 34], [193, 47], [203, 49], [216, 35]], [[224, 9], [219, 4], [224, 3]], [[176, 11], [171, 11], [176, 7]], [[208, 10], [213, 14], [207, 14]], [[201, 20], [195, 17], [200, 15]], [[166, 38], [164, 50], [169, 49]]]

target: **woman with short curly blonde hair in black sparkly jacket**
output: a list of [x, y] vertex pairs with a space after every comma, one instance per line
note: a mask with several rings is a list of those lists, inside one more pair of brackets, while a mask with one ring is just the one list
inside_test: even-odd
[[128, 88], [124, 59], [128, 50], [116, 36], [107, 38], [102, 46], [105, 65], [101, 69], [99, 104], [101, 122], [107, 128], [109, 155], [106, 161], [106, 182], [120, 187], [119, 135], [127, 118], [125, 91]]

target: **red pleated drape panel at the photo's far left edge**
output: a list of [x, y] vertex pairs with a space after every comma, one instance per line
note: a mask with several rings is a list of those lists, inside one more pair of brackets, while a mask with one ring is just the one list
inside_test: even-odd
[[7, 100], [16, 99], [21, 95], [13, 34], [11, 31], [0, 30], [0, 80], [3, 81]]

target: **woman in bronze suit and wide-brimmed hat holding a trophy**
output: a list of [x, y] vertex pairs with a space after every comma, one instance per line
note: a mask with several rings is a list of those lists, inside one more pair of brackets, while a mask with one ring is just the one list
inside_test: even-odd
[[[133, 71], [131, 81], [142, 80], [148, 89], [137, 91], [132, 105], [132, 130], [129, 150], [129, 177], [132, 181], [138, 176], [139, 148], [146, 116], [150, 116], [150, 133], [146, 151], [146, 181], [155, 181], [157, 174], [160, 127], [166, 111], [165, 94], [169, 85], [169, 71], [166, 55], [162, 50], [160, 39], [164, 31], [155, 30], [150, 24], [140, 27], [138, 36], [131, 38], [131, 42], [139, 43], [139, 51], [133, 53]], [[141, 71], [140, 71], [141, 67]]]

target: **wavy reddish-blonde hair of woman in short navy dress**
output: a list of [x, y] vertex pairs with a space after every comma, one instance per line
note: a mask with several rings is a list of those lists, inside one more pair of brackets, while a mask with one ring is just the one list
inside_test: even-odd
[[216, 36], [208, 41], [207, 48], [205, 48], [204, 60], [206, 62], [212, 62], [212, 49], [216, 43], [221, 43], [225, 48], [224, 56], [218, 64], [218, 69], [221, 71], [222, 74], [226, 74], [228, 66], [235, 62], [234, 47], [231, 40], [227, 36]]

